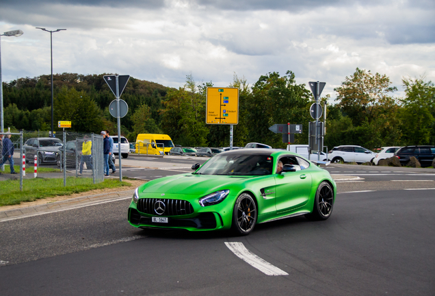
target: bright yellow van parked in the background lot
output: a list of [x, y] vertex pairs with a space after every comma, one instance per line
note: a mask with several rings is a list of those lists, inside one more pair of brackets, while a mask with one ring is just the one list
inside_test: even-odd
[[163, 153], [168, 155], [173, 147], [172, 139], [166, 134], [138, 134], [135, 151], [140, 154], [148, 153], [148, 155], [163, 155]]

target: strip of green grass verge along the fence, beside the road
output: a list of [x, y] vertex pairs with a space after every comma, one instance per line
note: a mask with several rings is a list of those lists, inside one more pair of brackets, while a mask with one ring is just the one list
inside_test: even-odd
[[[23, 180], [23, 191], [20, 191], [19, 180], [8, 181], [8, 188], [14, 188], [14, 190], [8, 190], [8, 192], [5, 193], [5, 190], [2, 188], [0, 206], [21, 204], [21, 201], [35, 201], [36, 199], [44, 199], [58, 195], [72, 195], [73, 193], [81, 193], [94, 189], [132, 186], [129, 182], [119, 182], [119, 180], [114, 179], [106, 179], [104, 182], [98, 184], [93, 184], [91, 178], [67, 177], [66, 179], [67, 186], [65, 187], [63, 179]], [[78, 182], [76, 182], [76, 180]]]

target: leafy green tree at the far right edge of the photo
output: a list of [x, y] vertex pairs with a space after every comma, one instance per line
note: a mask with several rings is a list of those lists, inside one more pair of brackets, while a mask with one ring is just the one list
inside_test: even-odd
[[[406, 96], [401, 99], [401, 130], [406, 145], [427, 145], [431, 143], [434, 131], [435, 87], [425, 82], [424, 77], [402, 79]], [[432, 135], [433, 136], [433, 135]], [[432, 144], [435, 141], [432, 140]]]

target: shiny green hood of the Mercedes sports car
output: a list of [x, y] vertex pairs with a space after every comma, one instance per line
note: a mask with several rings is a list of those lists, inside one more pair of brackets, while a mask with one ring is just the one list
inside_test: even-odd
[[251, 176], [174, 175], [146, 183], [143, 192], [179, 195], [207, 195], [243, 182]]

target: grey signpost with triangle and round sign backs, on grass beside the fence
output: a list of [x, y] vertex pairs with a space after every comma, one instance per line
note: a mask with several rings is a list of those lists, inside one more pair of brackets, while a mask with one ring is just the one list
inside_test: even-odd
[[[103, 76], [105, 82], [107, 83], [107, 85], [109, 86], [109, 88], [111, 89], [111, 92], [114, 93], [115, 97], [116, 97], [116, 105], [113, 104], [114, 106], [112, 106], [112, 103], [114, 103], [112, 101], [112, 103], [110, 103], [110, 106], [115, 109], [116, 106], [116, 110], [113, 110], [114, 113], [116, 113], [116, 116], [114, 114], [112, 114], [112, 112], [110, 112], [111, 116], [116, 117], [117, 121], [118, 121], [118, 161], [119, 161], [119, 180], [120, 182], [122, 182], [122, 164], [121, 164], [121, 117], [124, 117], [128, 110], [129, 110], [129, 106], [127, 105], [127, 103], [125, 101], [122, 101], [124, 103], [120, 104], [120, 96], [122, 94], [122, 92], [124, 91], [125, 86], [127, 85], [127, 82], [129, 82], [129, 78], [130, 75], [105, 75]], [[123, 107], [123, 111], [121, 112], [121, 106]], [[110, 110], [111, 108], [109, 108]], [[126, 110], [127, 109], [127, 110]], [[124, 114], [125, 113], [125, 114]], [[123, 115], [122, 115], [123, 114]], [[122, 115], [122, 116], [121, 116]]]

